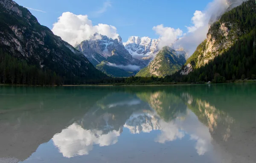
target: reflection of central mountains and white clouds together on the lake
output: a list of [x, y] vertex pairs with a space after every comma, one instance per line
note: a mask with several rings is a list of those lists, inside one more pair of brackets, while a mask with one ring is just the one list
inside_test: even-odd
[[54, 135], [52, 140], [59, 152], [70, 158], [88, 155], [94, 145], [116, 144], [123, 128], [129, 129], [131, 134], [159, 130], [155, 142], [164, 144], [189, 135], [196, 142], [198, 155], [204, 155], [207, 152], [207, 141], [200, 133], [186, 131], [189, 129], [186, 125], [190, 124], [186, 119], [189, 121], [186, 105], [172, 93], [140, 92], [136, 96], [111, 93], [97, 101], [79, 121]]

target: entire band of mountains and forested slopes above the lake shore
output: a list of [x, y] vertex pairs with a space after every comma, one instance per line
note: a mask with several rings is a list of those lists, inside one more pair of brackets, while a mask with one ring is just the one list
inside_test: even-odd
[[[132, 36], [123, 42], [95, 33], [76, 46], [41, 25], [27, 8], [0, 0], [0, 82], [3, 84], [145, 84], [255, 79], [256, 3], [227, 0], [212, 15], [205, 40], [185, 47]], [[191, 53], [191, 52], [190, 52]], [[131, 78], [128, 78], [131, 77]]]

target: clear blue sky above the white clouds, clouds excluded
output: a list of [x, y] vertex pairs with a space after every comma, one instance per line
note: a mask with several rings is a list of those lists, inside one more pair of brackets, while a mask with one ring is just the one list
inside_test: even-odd
[[180, 28], [192, 25], [196, 10], [204, 11], [210, 0], [15, 0], [30, 9], [42, 25], [52, 29], [63, 12], [88, 15], [93, 25], [113, 25], [125, 42], [130, 36], [158, 38], [152, 28], [163, 24]]

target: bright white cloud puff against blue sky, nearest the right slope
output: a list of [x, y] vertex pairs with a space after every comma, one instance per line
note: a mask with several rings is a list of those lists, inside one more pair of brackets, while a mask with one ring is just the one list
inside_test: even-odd
[[204, 26], [205, 19], [205, 14], [202, 11], [195, 11], [194, 17], [191, 19], [194, 25], [189, 27], [186, 26], [186, 28], [188, 28], [188, 32], [194, 32], [198, 28]]

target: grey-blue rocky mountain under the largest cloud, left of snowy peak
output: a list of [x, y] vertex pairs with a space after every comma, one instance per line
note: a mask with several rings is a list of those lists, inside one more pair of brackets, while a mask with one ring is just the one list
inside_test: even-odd
[[94, 34], [89, 40], [81, 42], [77, 49], [86, 56], [93, 65], [108, 76], [134, 76], [147, 66], [149, 59], [133, 57], [122, 43], [122, 38], [111, 39], [101, 34]]

